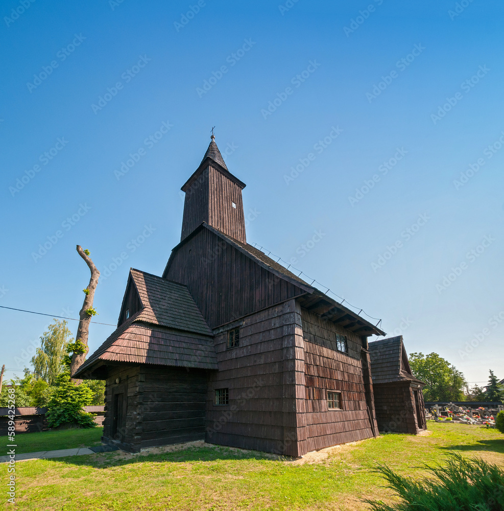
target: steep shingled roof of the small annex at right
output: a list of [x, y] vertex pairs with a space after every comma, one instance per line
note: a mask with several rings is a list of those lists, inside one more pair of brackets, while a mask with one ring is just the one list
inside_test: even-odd
[[402, 335], [369, 343], [373, 383], [412, 381], [424, 385], [411, 373]]

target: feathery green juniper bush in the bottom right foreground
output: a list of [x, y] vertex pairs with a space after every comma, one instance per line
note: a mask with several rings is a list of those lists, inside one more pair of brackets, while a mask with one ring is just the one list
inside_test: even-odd
[[504, 470], [481, 458], [466, 459], [450, 453], [446, 467], [425, 466], [437, 479], [395, 474], [388, 467], [378, 471], [401, 498], [389, 506], [382, 501], [366, 500], [374, 511], [499, 511], [504, 509]]

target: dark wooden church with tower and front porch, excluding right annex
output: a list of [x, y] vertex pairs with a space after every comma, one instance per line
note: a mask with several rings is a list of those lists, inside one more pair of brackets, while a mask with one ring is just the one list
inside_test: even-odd
[[75, 375], [106, 380], [104, 442], [300, 456], [378, 435], [368, 337], [385, 333], [247, 244], [244, 188], [212, 135], [162, 276], [131, 269]]

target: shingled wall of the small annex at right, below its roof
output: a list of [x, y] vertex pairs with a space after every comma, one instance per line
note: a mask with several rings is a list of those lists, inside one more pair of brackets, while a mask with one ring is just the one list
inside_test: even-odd
[[420, 431], [410, 382], [375, 383], [373, 389], [380, 431], [410, 434]]

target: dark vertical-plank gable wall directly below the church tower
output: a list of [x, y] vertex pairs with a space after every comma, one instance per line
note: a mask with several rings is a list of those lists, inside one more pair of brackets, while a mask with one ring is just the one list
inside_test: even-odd
[[303, 293], [205, 228], [172, 254], [163, 276], [187, 286], [210, 328]]

